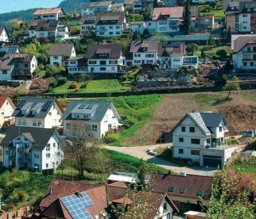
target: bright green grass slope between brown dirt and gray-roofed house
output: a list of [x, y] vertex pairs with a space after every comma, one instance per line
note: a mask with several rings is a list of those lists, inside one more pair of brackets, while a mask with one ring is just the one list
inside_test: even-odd
[[[114, 146], [125, 145], [125, 140], [145, 125], [153, 116], [155, 106], [162, 99], [162, 95], [119, 96], [107, 98], [85, 98], [84, 100], [111, 101], [122, 117], [124, 129], [109, 132], [105, 138], [107, 144]], [[67, 105], [68, 99], [62, 99], [61, 104]]]

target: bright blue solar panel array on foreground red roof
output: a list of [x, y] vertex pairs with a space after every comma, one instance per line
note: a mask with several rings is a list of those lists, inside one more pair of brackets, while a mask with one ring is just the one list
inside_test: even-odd
[[82, 197], [71, 195], [60, 200], [73, 219], [92, 219], [86, 207], [93, 205], [93, 202], [86, 192], [80, 192], [80, 194]]

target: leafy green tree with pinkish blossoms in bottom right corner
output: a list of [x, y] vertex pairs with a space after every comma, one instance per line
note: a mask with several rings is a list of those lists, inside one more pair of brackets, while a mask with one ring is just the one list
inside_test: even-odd
[[251, 174], [242, 174], [231, 169], [218, 170], [213, 178], [206, 217], [254, 218], [255, 183]]

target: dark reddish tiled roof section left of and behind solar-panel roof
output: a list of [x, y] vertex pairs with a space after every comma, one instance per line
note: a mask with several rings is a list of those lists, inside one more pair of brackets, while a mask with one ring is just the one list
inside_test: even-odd
[[[58, 180], [55, 179], [51, 182], [49, 188], [46, 191], [46, 196], [41, 201], [40, 206], [49, 207], [55, 200], [61, 197], [69, 196], [75, 192], [87, 191], [99, 187], [98, 185], [80, 183], [80, 182], [71, 182], [67, 180]], [[50, 194], [50, 189], [52, 193]]]

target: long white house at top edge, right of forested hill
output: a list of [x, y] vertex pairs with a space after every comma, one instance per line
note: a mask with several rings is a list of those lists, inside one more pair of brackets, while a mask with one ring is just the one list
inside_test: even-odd
[[110, 12], [113, 1], [91, 2], [81, 6], [81, 15], [95, 15], [97, 12]]

